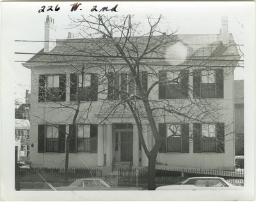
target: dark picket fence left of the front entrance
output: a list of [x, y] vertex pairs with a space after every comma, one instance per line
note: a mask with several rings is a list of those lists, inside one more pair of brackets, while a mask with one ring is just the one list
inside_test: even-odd
[[[38, 173], [44, 178], [42, 178]], [[68, 183], [74, 182], [79, 178], [102, 177], [100, 169], [68, 169]], [[64, 168], [22, 168], [20, 169], [20, 182], [65, 182], [65, 169]]]

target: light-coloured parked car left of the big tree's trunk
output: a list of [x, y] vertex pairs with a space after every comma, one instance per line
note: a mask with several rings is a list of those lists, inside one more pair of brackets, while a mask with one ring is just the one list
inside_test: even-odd
[[141, 187], [117, 187], [106, 179], [82, 178], [74, 181], [68, 187], [55, 187], [56, 190], [144, 190]]

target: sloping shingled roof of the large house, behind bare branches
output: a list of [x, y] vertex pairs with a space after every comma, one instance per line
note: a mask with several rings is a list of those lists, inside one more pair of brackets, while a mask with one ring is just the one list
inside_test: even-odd
[[[228, 59], [239, 59], [239, 52], [234, 42], [232, 34], [229, 34], [229, 43], [223, 45], [220, 34], [214, 35], [161, 35], [154, 36], [149, 44], [149, 47], [153, 47], [154, 44], [159, 43], [163, 38], [168, 38], [168, 43], [160, 45], [157, 54], [156, 52], [147, 54], [147, 58], [163, 58], [166, 54], [166, 49], [170, 45], [176, 43], [182, 43], [182, 45], [188, 47], [188, 58], [202, 58], [204, 57], [227, 57]], [[124, 38], [114, 38], [116, 43], [125, 43]], [[138, 49], [143, 50], [147, 45], [147, 36], [132, 37], [131, 41], [134, 45], [137, 45]], [[104, 50], [99, 47], [102, 45]], [[132, 45], [127, 43], [127, 47], [132, 49]], [[52, 55], [54, 54], [54, 55]], [[127, 54], [128, 55], [128, 54]], [[86, 57], [84, 57], [86, 56]], [[91, 56], [91, 57], [89, 57]], [[113, 41], [109, 42], [107, 38], [95, 38], [95, 39], [67, 39], [57, 40], [56, 47], [49, 53], [44, 53], [44, 50], [40, 50], [38, 54], [33, 56], [27, 61], [24, 66], [28, 66], [28, 63], [67, 63], [67, 61], [84, 61], [91, 60], [97, 61], [95, 57], [108, 57], [113, 56], [115, 60], [118, 60], [118, 52], [115, 50]], [[134, 55], [136, 56], [136, 55]]]

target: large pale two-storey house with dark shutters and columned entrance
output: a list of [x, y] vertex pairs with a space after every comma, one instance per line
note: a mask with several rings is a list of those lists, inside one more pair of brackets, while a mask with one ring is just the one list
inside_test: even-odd
[[[35, 114], [31, 117], [32, 165], [63, 167], [65, 132], [74, 131], [74, 139], [70, 139], [69, 146], [70, 167], [84, 167], [83, 162], [89, 167], [109, 167], [113, 157], [116, 162], [123, 164], [132, 162], [132, 166], [148, 166], [147, 156], [143, 149], [141, 150], [138, 128], [132, 113], [125, 111], [124, 108], [121, 109], [121, 106], [108, 118], [106, 114], [100, 113], [100, 109], [111, 109], [116, 100], [122, 100], [119, 89], [138, 95], [136, 88], [132, 84], [127, 84], [127, 81], [131, 81], [128, 72], [122, 72], [120, 76], [115, 77], [111, 77], [110, 72], [108, 79], [99, 82], [99, 78], [102, 78], [101, 70], [89, 68], [84, 75], [85, 91], [82, 95], [84, 102], [80, 109], [84, 112], [84, 118], [88, 119], [79, 118], [76, 128], [72, 128], [71, 117], [74, 116], [72, 105], [76, 103], [77, 92], [79, 93], [81, 89], [81, 76], [74, 73], [74, 69], [67, 61], [72, 61], [76, 67], [79, 67], [79, 62], [83, 64], [84, 58], [72, 57], [72, 54], [83, 55], [83, 51], [92, 49], [93, 45], [92, 40], [89, 39], [69, 38], [52, 43], [49, 36], [54, 35], [55, 32], [54, 20], [47, 16], [44, 49], [23, 64], [32, 71], [31, 114]], [[157, 40], [164, 36], [155, 38]], [[182, 70], [179, 68], [179, 72], [176, 69], [179, 65], [172, 66], [173, 70], [177, 71], [168, 72], [170, 71], [168, 63], [160, 61], [157, 64], [161, 63], [162, 66], [156, 65], [154, 69], [159, 77], [150, 77], [147, 74], [150, 70], [145, 68], [146, 73], [141, 72], [143, 88], [147, 89], [148, 86], [159, 81], [159, 84], [152, 88], [150, 98], [170, 101], [173, 109], [175, 105], [180, 104], [188, 105], [189, 108], [189, 103], [200, 103], [202, 100], [200, 98], [207, 98], [205, 102], [209, 102], [209, 105], [215, 102], [220, 104], [222, 116], [218, 118], [218, 123], [205, 120], [204, 123], [195, 121], [187, 124], [186, 119], [185, 123], [180, 123], [174, 116], [156, 115], [159, 134], [169, 137], [157, 155], [157, 162], [180, 168], [233, 169], [235, 165], [233, 70], [240, 57], [232, 34], [228, 34], [227, 19], [223, 19], [222, 34], [173, 35], [173, 38], [179, 43], [175, 43], [177, 52], [169, 52], [170, 55], [186, 49], [182, 52], [183, 54], [185, 52], [185, 58], [195, 56], [199, 59], [191, 62], [194, 66], [189, 61], [184, 61], [182, 65], [186, 67], [189, 64], [191, 68]], [[99, 40], [105, 39], [99, 38]], [[59, 56], [54, 57], [48, 53]], [[65, 56], [61, 57], [61, 54]], [[204, 60], [207, 60], [207, 70], [195, 68]], [[114, 59], [111, 63], [116, 71], [120, 70], [119, 61]], [[145, 62], [148, 65], [154, 64], [152, 60]], [[163, 68], [163, 65], [166, 66]], [[220, 68], [220, 66], [230, 68]], [[109, 71], [110, 67], [104, 64], [104, 68]], [[229, 70], [227, 75], [226, 70]], [[177, 84], [167, 85], [162, 82], [166, 78], [175, 79], [177, 75], [178, 77], [184, 75]], [[189, 91], [190, 87], [193, 92]], [[98, 94], [105, 89], [108, 89], [105, 93]], [[87, 109], [92, 110], [86, 111]], [[191, 110], [196, 113], [196, 108], [188, 109]], [[214, 113], [213, 109], [209, 113]], [[154, 143], [152, 130], [147, 119], [142, 123], [143, 137], [150, 150]], [[173, 134], [181, 136], [173, 137]], [[190, 143], [189, 137], [193, 137]]]

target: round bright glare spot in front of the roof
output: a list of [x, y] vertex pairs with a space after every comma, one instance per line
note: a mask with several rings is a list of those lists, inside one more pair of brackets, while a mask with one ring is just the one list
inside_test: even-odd
[[178, 42], [171, 45], [166, 50], [165, 59], [170, 65], [179, 65], [185, 61], [188, 54], [188, 48]]

